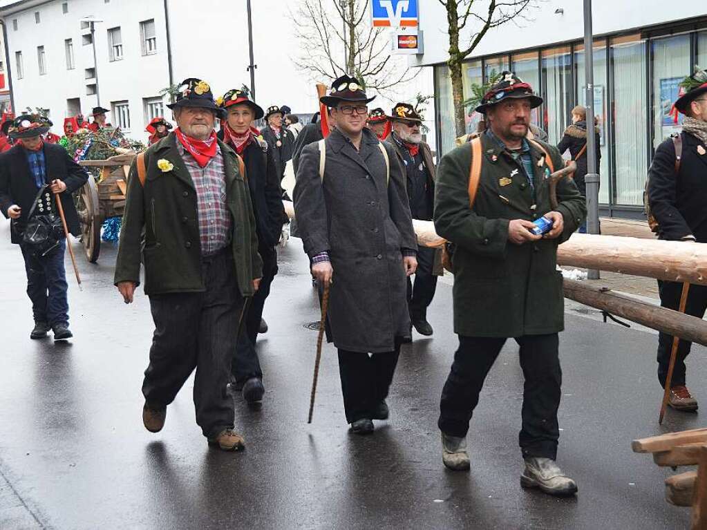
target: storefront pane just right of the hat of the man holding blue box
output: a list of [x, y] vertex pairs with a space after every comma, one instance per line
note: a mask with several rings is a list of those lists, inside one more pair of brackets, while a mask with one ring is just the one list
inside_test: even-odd
[[549, 143], [556, 144], [570, 123], [572, 70], [570, 48], [562, 46], [542, 52], [542, 123]]

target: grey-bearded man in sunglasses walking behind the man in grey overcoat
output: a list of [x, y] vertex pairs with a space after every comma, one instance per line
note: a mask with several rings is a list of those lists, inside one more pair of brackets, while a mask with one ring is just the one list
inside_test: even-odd
[[[392, 134], [390, 143], [402, 160], [407, 176], [407, 196], [413, 219], [432, 220], [435, 198], [435, 163], [430, 146], [422, 141], [422, 118], [412, 105], [397, 103], [391, 112]], [[410, 320], [416, 331], [424, 336], [433, 333], [427, 322], [427, 308], [432, 303], [437, 288], [433, 269], [441, 270], [441, 252], [428, 247], [417, 249], [415, 283], [407, 278], [407, 305]]]

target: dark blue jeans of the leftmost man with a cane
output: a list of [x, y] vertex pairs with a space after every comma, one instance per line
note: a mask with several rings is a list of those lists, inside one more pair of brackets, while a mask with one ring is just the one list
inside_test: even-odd
[[69, 324], [69, 298], [66, 293], [64, 252], [66, 240], [46, 256], [35, 256], [25, 245], [20, 245], [27, 272], [27, 295], [32, 300], [35, 322], [46, 322], [49, 326]]

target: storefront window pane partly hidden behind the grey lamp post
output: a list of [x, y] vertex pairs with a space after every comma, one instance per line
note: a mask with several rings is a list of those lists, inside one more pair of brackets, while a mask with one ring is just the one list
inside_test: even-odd
[[[599, 201], [609, 204], [609, 142], [607, 141], [607, 47], [604, 43], [595, 43], [594, 57], [594, 114], [597, 118], [602, 159], [599, 165], [601, 184], [599, 187]], [[575, 46], [575, 79], [577, 90], [577, 104], [586, 105], [584, 46]]]

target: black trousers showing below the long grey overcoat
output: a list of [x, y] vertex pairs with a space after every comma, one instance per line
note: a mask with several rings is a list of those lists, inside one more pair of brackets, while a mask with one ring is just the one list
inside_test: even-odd
[[370, 356], [339, 349], [339, 375], [347, 423], [370, 419], [375, 407], [387, 398], [399, 355], [397, 339], [395, 351]]

